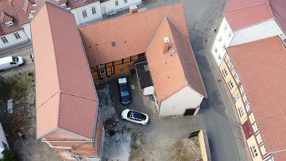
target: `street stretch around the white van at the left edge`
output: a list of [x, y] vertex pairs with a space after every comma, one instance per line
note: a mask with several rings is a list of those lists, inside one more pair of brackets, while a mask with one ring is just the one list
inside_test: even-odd
[[2, 77], [7, 77], [10, 75], [18, 74], [19, 72], [28, 72], [34, 71], [34, 63], [30, 59], [30, 54], [32, 53], [32, 45], [28, 45], [26, 47], [22, 47], [4, 54], [0, 55], [0, 58], [4, 58], [7, 56], [21, 56], [24, 59], [24, 64], [20, 67], [8, 69], [0, 72]]

